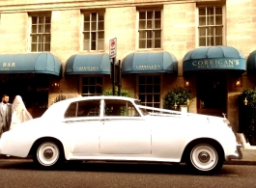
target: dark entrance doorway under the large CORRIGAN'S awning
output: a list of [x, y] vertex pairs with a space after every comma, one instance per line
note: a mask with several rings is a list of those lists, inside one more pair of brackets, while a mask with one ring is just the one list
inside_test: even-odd
[[226, 73], [204, 72], [197, 75], [197, 112], [222, 117], [226, 114]]

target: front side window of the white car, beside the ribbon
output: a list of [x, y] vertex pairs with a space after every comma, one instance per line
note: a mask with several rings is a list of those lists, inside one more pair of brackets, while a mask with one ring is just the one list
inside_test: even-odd
[[140, 116], [136, 108], [130, 101], [105, 99], [104, 116], [124, 116], [137, 117]]

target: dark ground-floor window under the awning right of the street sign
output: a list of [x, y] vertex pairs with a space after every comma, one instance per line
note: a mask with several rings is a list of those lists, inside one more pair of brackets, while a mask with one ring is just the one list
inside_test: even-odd
[[160, 75], [139, 76], [139, 99], [142, 105], [160, 107]]

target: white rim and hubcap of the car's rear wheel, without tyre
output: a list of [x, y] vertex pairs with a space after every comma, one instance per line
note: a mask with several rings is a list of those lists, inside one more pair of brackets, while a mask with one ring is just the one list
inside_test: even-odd
[[37, 150], [37, 158], [43, 166], [54, 165], [60, 157], [60, 150], [54, 143], [43, 143]]

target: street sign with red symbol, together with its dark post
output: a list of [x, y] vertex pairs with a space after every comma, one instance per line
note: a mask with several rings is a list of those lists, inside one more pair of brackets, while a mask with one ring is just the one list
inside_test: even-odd
[[110, 58], [110, 80], [112, 83], [112, 94], [115, 95], [115, 63], [117, 54], [117, 39], [109, 40], [109, 58]]

